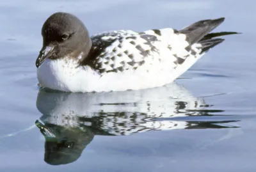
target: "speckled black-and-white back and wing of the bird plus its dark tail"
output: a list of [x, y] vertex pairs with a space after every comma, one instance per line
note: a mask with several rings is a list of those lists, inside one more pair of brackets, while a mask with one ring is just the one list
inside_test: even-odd
[[[222, 38], [216, 36], [236, 34], [210, 33], [223, 20], [201, 20], [180, 31], [165, 28], [142, 33], [130, 30], [101, 33], [91, 37], [92, 50], [82, 65], [90, 65], [100, 74], [136, 70], [141, 66], [145, 66], [145, 70], [181, 68], [176, 72], [182, 74], [204, 52], [223, 42]], [[186, 62], [186, 59], [189, 60]]]

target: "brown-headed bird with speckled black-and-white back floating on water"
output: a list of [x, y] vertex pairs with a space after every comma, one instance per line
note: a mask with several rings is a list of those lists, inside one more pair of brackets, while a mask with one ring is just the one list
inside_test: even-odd
[[36, 59], [38, 84], [82, 93], [164, 86], [223, 42], [220, 36], [237, 34], [211, 33], [224, 20], [200, 20], [180, 30], [117, 30], [90, 36], [75, 15], [53, 13], [42, 26], [43, 45]]

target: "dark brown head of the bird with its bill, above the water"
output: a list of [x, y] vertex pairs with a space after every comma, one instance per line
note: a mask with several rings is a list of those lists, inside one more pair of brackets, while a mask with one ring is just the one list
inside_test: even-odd
[[42, 27], [43, 47], [36, 59], [38, 68], [45, 59], [63, 58], [70, 54], [78, 58], [86, 57], [92, 47], [92, 41], [83, 22], [70, 13], [54, 13]]

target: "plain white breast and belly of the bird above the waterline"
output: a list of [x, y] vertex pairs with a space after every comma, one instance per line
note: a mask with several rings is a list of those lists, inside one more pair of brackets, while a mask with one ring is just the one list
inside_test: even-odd
[[[172, 59], [170, 57], [166, 59]], [[176, 68], [173, 61], [161, 61], [124, 72], [109, 72], [100, 75], [90, 66], [77, 66], [70, 59], [46, 59], [37, 69], [40, 86], [67, 92], [125, 91], [163, 86], [174, 81], [197, 61], [186, 59]]]

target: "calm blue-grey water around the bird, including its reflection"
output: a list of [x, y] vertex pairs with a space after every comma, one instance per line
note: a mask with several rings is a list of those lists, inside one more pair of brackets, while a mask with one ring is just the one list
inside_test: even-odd
[[[40, 29], [58, 11], [91, 34], [217, 17], [226, 20], [216, 31], [243, 34], [164, 88], [39, 92]], [[252, 0], [1, 2], [0, 171], [255, 171], [255, 16]]]

